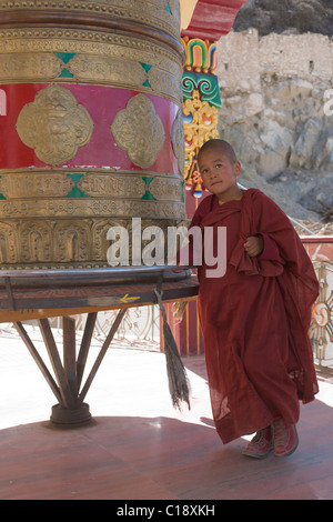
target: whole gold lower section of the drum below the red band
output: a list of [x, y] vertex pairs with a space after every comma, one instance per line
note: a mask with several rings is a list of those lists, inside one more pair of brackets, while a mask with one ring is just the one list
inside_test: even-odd
[[[178, 175], [83, 169], [0, 171], [0, 263], [2, 270], [105, 268], [110, 227], [131, 232], [131, 217], [142, 227], [168, 227], [185, 214]], [[147, 180], [150, 180], [148, 183]], [[71, 198], [75, 185], [82, 198]], [[149, 191], [151, 199], [144, 200]], [[52, 218], [50, 218], [52, 217]]]

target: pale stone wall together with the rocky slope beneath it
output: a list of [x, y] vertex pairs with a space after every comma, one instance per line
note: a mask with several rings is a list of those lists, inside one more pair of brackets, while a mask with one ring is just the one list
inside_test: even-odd
[[222, 37], [218, 59], [219, 131], [242, 162], [241, 183], [295, 218], [327, 215], [333, 116], [324, 112], [324, 94], [333, 89], [333, 41], [312, 33], [259, 38], [250, 29]]

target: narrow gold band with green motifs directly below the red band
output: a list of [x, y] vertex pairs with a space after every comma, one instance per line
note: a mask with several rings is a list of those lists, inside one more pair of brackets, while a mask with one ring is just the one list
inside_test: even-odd
[[[80, 171], [80, 173], [79, 173]], [[75, 182], [74, 177], [80, 179]], [[71, 195], [72, 189], [79, 189], [81, 198]], [[176, 201], [183, 200], [183, 180], [179, 175], [160, 174], [149, 171], [104, 171], [102, 169], [61, 169], [47, 170], [33, 169], [26, 171], [24, 169], [3, 171], [0, 170], [0, 193], [6, 200], [0, 200], [0, 210], [7, 217], [18, 215], [19, 203], [24, 204], [33, 200], [31, 212], [37, 212], [36, 198], [40, 201], [48, 201], [54, 205], [61, 200], [62, 209], [64, 202], [77, 201], [80, 199], [85, 205], [93, 204], [97, 201], [120, 199], [123, 200], [141, 200], [145, 204], [144, 195], [147, 192], [152, 195], [150, 200]], [[65, 199], [63, 199], [65, 198]], [[7, 200], [11, 200], [9, 202]], [[105, 202], [105, 201], [104, 201]], [[44, 208], [44, 204], [42, 208]], [[22, 212], [22, 213], [23, 213]], [[158, 214], [157, 214], [158, 215]]]

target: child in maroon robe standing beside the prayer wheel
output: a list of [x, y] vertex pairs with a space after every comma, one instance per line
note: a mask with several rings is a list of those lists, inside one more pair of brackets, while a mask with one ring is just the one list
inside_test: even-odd
[[[258, 189], [241, 190], [241, 164], [223, 140], [204, 143], [199, 168], [211, 192], [191, 227], [226, 228], [226, 271], [198, 268], [199, 312], [213, 419], [223, 443], [256, 432], [243, 453], [256, 459], [297, 446], [300, 400], [317, 393], [307, 337], [319, 283], [299, 235]], [[213, 248], [213, 245], [211, 245]], [[216, 244], [214, 244], [216, 255]]]

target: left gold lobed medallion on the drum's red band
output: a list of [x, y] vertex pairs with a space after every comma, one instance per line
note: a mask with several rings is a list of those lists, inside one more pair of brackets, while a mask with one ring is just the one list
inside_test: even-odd
[[63, 87], [50, 86], [38, 92], [21, 110], [17, 131], [44, 163], [59, 165], [74, 158], [92, 134], [93, 121], [83, 106]]

